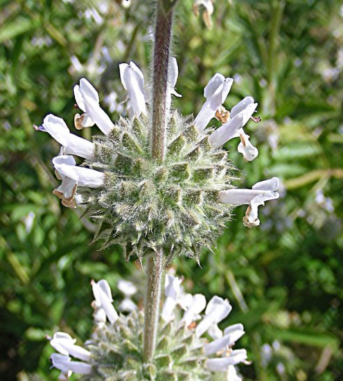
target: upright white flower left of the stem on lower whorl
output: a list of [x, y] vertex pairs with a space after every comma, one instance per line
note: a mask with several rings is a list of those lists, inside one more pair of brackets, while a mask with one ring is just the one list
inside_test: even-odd
[[[107, 283], [107, 281], [102, 279], [101, 281], [98, 281], [98, 283], [96, 283], [95, 281], [91, 281], [91, 287], [93, 289], [93, 294], [95, 298], [95, 301], [92, 303], [92, 306], [95, 309], [96, 321], [99, 321], [98, 318], [100, 317], [100, 315], [102, 315], [103, 317], [103, 310], [106, 314], [107, 319], [112, 324], [114, 324], [118, 319], [118, 313], [112, 305], [113, 299], [111, 289], [109, 288], [109, 284]], [[105, 323], [103, 319], [101, 319], [100, 322]]]

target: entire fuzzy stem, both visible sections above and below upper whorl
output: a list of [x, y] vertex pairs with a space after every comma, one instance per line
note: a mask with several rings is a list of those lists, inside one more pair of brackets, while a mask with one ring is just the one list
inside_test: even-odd
[[[161, 163], [166, 146], [166, 109], [168, 94], [168, 67], [172, 34], [173, 8], [177, 0], [157, 0], [155, 19], [155, 47], [152, 65], [152, 157]], [[143, 357], [151, 362], [155, 354], [159, 303], [163, 278], [163, 249], [150, 254], [146, 270], [146, 299], [144, 308]]]

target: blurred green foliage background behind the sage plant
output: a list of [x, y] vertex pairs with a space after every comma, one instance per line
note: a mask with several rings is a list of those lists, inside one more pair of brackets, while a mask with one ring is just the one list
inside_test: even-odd
[[[49, 112], [73, 124], [72, 88], [82, 76], [103, 105], [109, 96], [114, 120], [125, 98], [118, 63], [134, 60], [148, 80], [148, 6], [120, 3], [0, 0], [1, 380], [56, 378], [44, 336], [89, 337], [90, 279], [107, 278], [118, 299], [118, 279], [142, 278], [120, 249], [89, 245], [92, 224], [52, 195], [59, 147], [32, 127]], [[183, 97], [175, 107], [196, 114], [213, 73], [233, 76], [226, 107], [250, 94], [262, 118], [247, 126], [255, 161], [244, 163], [237, 141], [227, 144], [241, 170], [237, 185], [276, 175], [283, 190], [261, 209], [260, 227], [246, 229], [245, 210], [236, 209], [216, 255], [204, 253], [202, 268], [179, 259], [177, 274], [186, 289], [233, 304], [227, 321], [245, 325], [236, 347], [252, 360], [240, 366], [245, 380], [342, 380], [342, 2], [214, 5], [209, 30], [192, 1], [180, 1], [173, 51]]]

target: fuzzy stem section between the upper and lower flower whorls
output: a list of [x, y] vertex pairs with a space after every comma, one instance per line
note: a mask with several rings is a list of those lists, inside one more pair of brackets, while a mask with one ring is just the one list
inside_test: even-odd
[[159, 323], [159, 302], [163, 273], [163, 250], [159, 249], [148, 258], [146, 270], [146, 300], [144, 308], [144, 348], [143, 357], [151, 362], [156, 345], [157, 326]]

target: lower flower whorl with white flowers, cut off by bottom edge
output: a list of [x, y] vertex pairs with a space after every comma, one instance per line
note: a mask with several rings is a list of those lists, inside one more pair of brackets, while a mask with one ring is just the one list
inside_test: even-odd
[[181, 282], [166, 275], [156, 353], [146, 364], [143, 311], [135, 308], [130, 314], [118, 314], [108, 283], [92, 281], [95, 328], [85, 348], [67, 333], [49, 337], [58, 352], [51, 355], [51, 362], [61, 371], [59, 380], [68, 380], [71, 373], [89, 381], [241, 380], [235, 365], [246, 363], [247, 351], [232, 347], [244, 335], [243, 325], [234, 324], [224, 331], [218, 328], [232, 309], [229, 301], [213, 296], [206, 305], [204, 295], [184, 294]]

